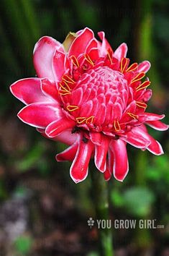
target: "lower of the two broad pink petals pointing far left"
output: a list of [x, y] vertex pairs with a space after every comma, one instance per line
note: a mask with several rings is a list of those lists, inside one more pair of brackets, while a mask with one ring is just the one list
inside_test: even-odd
[[54, 103], [32, 103], [22, 108], [18, 113], [19, 119], [24, 123], [38, 128], [47, 127], [60, 115], [60, 108], [57, 108]]

